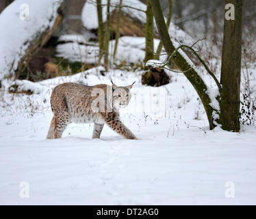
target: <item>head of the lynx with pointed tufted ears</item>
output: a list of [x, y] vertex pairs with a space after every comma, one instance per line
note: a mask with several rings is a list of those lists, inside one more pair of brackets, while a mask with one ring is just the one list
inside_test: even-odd
[[[112, 81], [111, 81], [112, 82]], [[113, 107], [115, 110], [126, 107], [131, 99], [131, 88], [135, 81], [126, 87], [118, 87], [112, 82], [112, 91], [113, 91]]]

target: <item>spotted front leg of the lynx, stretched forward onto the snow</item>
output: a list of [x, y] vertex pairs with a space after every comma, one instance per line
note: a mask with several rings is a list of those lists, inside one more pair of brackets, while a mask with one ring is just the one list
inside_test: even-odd
[[120, 120], [108, 120], [106, 123], [121, 136], [127, 139], [138, 140], [138, 138], [136, 138], [136, 136], [134, 136], [133, 133], [127, 127], [125, 127]]

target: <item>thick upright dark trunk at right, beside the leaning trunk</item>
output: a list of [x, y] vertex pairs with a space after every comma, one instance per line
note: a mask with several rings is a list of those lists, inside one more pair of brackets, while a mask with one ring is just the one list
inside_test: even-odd
[[240, 77], [243, 0], [226, 0], [235, 6], [235, 19], [225, 19], [220, 83], [220, 123], [227, 131], [240, 131]]

